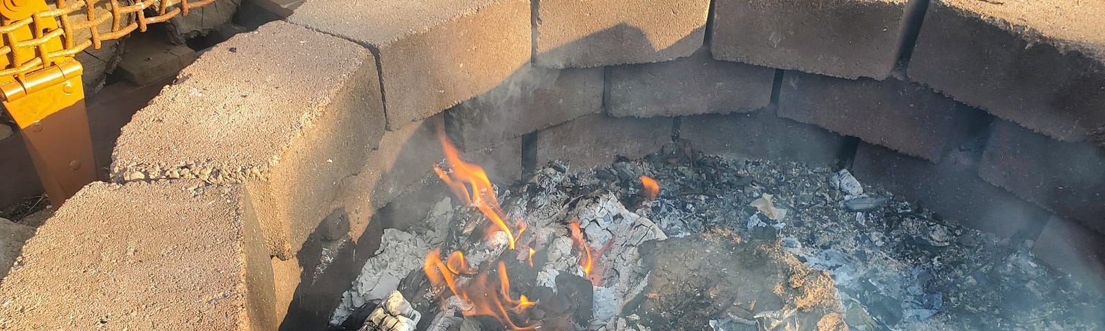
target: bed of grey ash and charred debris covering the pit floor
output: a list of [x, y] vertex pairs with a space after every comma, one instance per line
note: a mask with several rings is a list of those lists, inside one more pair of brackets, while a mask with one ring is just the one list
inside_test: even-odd
[[[642, 175], [659, 196], [645, 197]], [[962, 227], [846, 171], [669, 150], [588, 170], [554, 162], [497, 192], [530, 226], [519, 245], [538, 250], [530, 269], [504, 254], [511, 291], [538, 298], [515, 318], [541, 330], [1105, 330], [1105, 296], [1044, 266], [1031, 241]], [[465, 214], [446, 200], [425, 226], [386, 232], [332, 323], [359, 329], [399, 287], [418, 330], [502, 328], [442, 311], [427, 289], [420, 257], [463, 246]], [[569, 221], [597, 252], [598, 276], [557, 250]], [[431, 325], [441, 317], [455, 323]], [[391, 330], [373, 328], [361, 330]]]

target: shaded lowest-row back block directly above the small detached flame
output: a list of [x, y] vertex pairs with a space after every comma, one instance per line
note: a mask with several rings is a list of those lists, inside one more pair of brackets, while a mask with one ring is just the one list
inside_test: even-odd
[[673, 118], [588, 115], [537, 132], [537, 164], [568, 161], [573, 171], [639, 159], [672, 141]]

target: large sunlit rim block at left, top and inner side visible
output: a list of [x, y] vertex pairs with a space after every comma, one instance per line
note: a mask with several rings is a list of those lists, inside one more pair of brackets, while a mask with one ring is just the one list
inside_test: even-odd
[[208, 51], [123, 128], [114, 181], [239, 182], [288, 258], [383, 135], [368, 50], [285, 22]]

